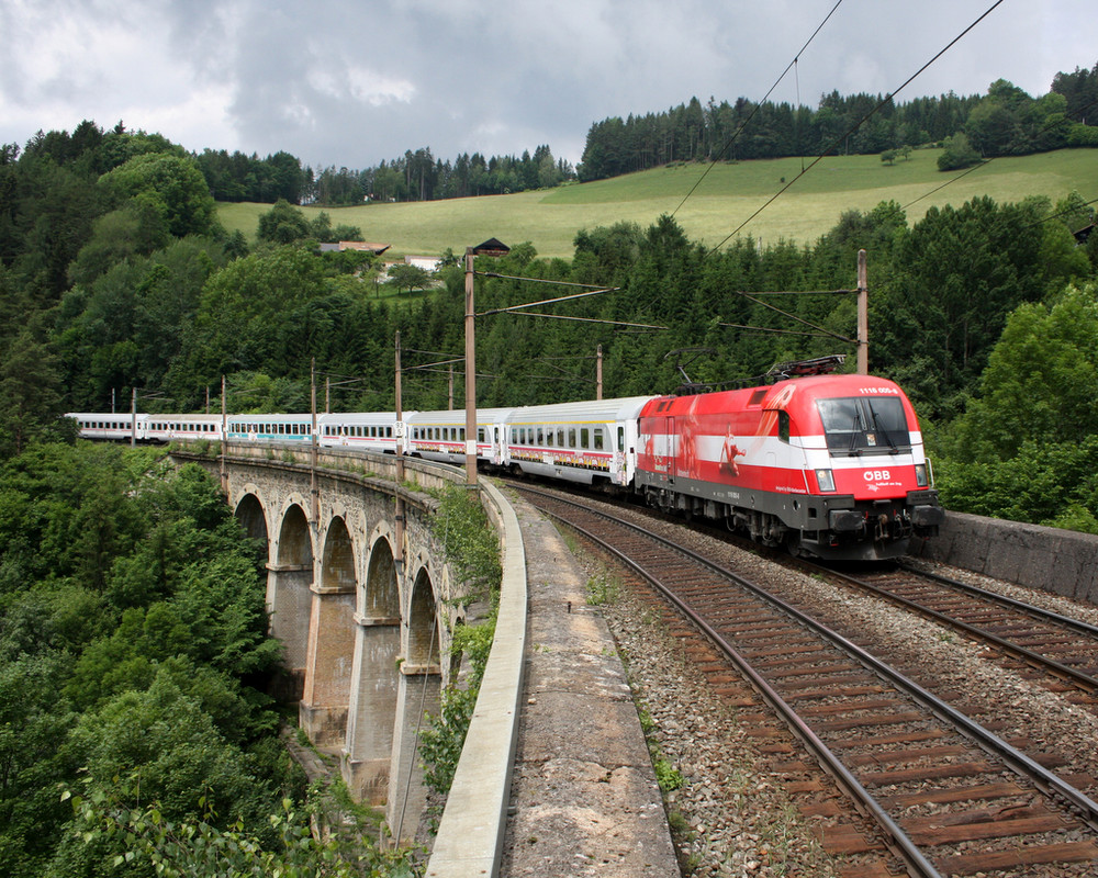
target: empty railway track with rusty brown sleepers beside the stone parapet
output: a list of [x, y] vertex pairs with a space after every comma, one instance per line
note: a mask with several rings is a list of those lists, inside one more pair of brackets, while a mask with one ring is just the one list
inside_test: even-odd
[[529, 496], [673, 601], [872, 817], [909, 875], [1098, 865], [1098, 804], [1035, 758], [758, 585], [587, 505]]

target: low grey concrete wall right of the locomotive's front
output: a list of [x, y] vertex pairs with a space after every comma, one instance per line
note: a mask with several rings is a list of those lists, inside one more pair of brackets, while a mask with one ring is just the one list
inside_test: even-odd
[[1098, 537], [964, 513], [911, 554], [1098, 604]]

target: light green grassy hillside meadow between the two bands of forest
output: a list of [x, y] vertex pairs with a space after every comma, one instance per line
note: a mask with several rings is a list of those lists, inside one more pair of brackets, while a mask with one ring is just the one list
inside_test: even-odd
[[[889, 200], [909, 205], [908, 221], [915, 222], [931, 206], [960, 205], [976, 195], [990, 195], [1000, 203], [1029, 195], [1056, 200], [1072, 190], [1088, 201], [1098, 195], [1098, 153], [1094, 149], [995, 159], [931, 193], [955, 177], [938, 170], [938, 155], [937, 149], [920, 149], [910, 160], [900, 159], [893, 166], [877, 156], [826, 158], [739, 234], [764, 243], [785, 238], [808, 244], [833, 226], [843, 211], [867, 211]], [[810, 161], [805, 159], [804, 164]], [[462, 252], [468, 245], [496, 237], [512, 245], [533, 241], [540, 256], [570, 258], [572, 239], [581, 228], [619, 221], [643, 228], [661, 213], [676, 209], [675, 218], [691, 238], [715, 246], [794, 180], [800, 169], [799, 158], [717, 165], [682, 207], [680, 203], [705, 166], [657, 168], [514, 195], [326, 210], [333, 224], [358, 226], [367, 240], [391, 244], [394, 256], [437, 255], [447, 247]], [[259, 214], [268, 210], [266, 204], [221, 204], [219, 215], [229, 230], [239, 228], [253, 238]], [[304, 210], [310, 217], [321, 211]]]

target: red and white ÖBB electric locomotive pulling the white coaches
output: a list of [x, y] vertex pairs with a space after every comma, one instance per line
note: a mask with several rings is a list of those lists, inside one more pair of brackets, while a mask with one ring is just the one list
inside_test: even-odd
[[657, 397], [640, 414], [636, 486], [829, 560], [901, 555], [944, 519], [910, 402], [866, 375]]

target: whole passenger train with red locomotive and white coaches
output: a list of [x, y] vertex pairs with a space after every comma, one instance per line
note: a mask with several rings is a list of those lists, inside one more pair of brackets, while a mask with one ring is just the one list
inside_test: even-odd
[[[792, 365], [792, 364], [785, 364]], [[71, 413], [80, 436], [313, 440], [312, 416]], [[466, 461], [466, 413], [325, 413], [325, 447]], [[470, 443], [471, 444], [471, 443]], [[944, 520], [915, 409], [894, 382], [787, 369], [737, 390], [477, 410], [478, 464], [589, 485], [827, 561], [897, 558]]]

